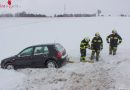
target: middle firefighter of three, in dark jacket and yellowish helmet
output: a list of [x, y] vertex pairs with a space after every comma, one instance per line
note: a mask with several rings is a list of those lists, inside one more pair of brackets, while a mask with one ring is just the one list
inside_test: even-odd
[[92, 62], [94, 62], [93, 59], [94, 59], [95, 53], [96, 53], [96, 61], [99, 60], [99, 54], [102, 49], [103, 49], [103, 41], [102, 41], [102, 38], [100, 37], [99, 32], [97, 32], [97, 33], [95, 33], [95, 37], [91, 41], [91, 50], [92, 50], [91, 60], [92, 60]]

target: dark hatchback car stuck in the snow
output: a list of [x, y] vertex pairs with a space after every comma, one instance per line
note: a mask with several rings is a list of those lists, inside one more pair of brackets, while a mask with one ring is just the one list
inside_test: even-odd
[[59, 68], [68, 61], [65, 48], [59, 43], [34, 45], [1, 61], [1, 68]]

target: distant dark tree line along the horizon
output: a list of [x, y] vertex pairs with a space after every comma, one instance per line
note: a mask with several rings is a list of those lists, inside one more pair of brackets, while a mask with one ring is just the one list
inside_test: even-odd
[[[15, 14], [11, 14], [11, 13], [0, 14], [0, 17], [96, 17], [96, 16], [103, 17], [104, 15], [102, 14], [101, 10], [97, 10], [97, 12], [93, 13], [93, 14], [81, 14], [81, 13], [68, 14], [68, 13], [64, 13], [64, 14], [55, 14], [54, 16], [47, 16], [45, 14], [26, 13], [25, 11], [15, 13]], [[112, 16], [112, 15], [109, 14], [108, 16]], [[126, 15], [126, 14], [120, 14], [119, 16], [130, 17], [130, 15]]]

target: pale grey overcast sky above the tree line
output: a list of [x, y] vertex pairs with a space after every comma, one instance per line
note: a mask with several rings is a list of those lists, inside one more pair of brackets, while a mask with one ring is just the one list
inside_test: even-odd
[[[7, 0], [0, 0], [0, 4], [7, 4]], [[129, 14], [130, 0], [12, 0], [12, 9], [0, 8], [0, 13], [27, 11], [29, 13], [43, 13], [54, 15], [60, 13], [96, 13], [102, 14]], [[65, 7], [65, 10], [64, 10]]]

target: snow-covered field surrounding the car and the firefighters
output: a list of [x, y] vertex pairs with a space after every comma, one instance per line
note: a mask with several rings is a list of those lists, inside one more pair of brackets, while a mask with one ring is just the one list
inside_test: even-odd
[[[106, 36], [116, 29], [123, 42], [108, 55]], [[100, 61], [79, 62], [79, 45], [99, 32]], [[130, 90], [130, 18], [0, 18], [0, 60], [37, 44], [61, 43], [71, 60], [60, 69], [0, 69], [0, 90]], [[90, 57], [91, 51], [87, 50]]]

